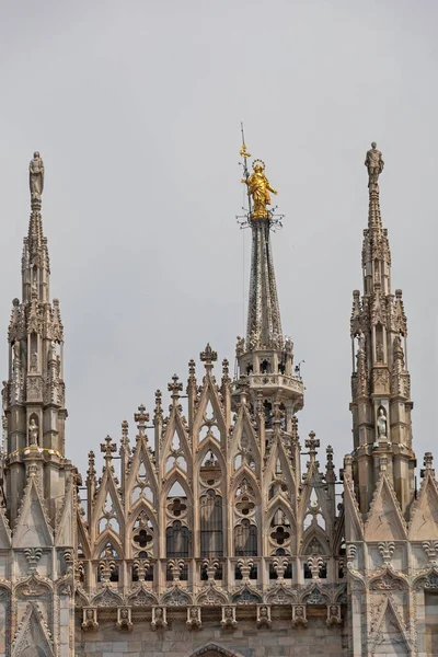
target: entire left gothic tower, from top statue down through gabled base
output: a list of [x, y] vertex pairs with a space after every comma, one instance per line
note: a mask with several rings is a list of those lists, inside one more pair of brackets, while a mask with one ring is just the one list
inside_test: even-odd
[[65, 457], [64, 328], [59, 301], [49, 300], [41, 215], [44, 164], [37, 152], [30, 164], [30, 185], [22, 301], [12, 302], [9, 376], [2, 391], [0, 623], [7, 631], [0, 654], [67, 657], [73, 647], [73, 509], [79, 480]]

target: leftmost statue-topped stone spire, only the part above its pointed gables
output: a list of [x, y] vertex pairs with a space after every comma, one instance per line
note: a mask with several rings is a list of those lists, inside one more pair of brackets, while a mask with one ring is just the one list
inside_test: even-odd
[[50, 266], [41, 214], [44, 164], [38, 152], [30, 164], [30, 187], [31, 217], [22, 255], [22, 301], [12, 301], [9, 376], [2, 392], [5, 497], [11, 523], [18, 516], [31, 464], [44, 491], [51, 522], [62, 502], [66, 469], [71, 469], [65, 459], [64, 327], [59, 301], [49, 301]]

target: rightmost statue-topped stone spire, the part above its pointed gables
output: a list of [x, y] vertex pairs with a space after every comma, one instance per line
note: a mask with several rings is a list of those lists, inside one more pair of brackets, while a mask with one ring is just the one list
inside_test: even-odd
[[388, 230], [380, 214], [379, 176], [382, 153], [373, 142], [367, 152], [369, 212], [364, 230], [364, 292], [353, 292], [350, 320], [353, 376], [353, 475], [362, 514], [380, 475], [381, 457], [388, 459], [402, 511], [414, 497], [415, 454], [412, 450], [411, 379], [407, 371], [407, 322], [402, 291], [391, 290], [391, 253]]

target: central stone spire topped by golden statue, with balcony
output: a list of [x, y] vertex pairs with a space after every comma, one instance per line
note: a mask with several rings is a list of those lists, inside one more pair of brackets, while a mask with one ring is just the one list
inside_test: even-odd
[[[238, 337], [238, 388], [250, 390], [253, 407], [265, 414], [266, 437], [274, 429], [274, 411], [280, 411], [284, 428], [292, 433], [293, 415], [303, 406], [303, 383], [293, 372], [293, 344], [283, 335], [280, 309], [274, 273], [270, 232], [275, 223], [270, 195], [277, 192], [265, 175], [265, 163], [254, 160], [250, 175], [250, 153], [243, 143], [243, 158], [250, 210], [245, 226], [252, 232], [250, 296], [246, 338]], [[269, 442], [269, 440], [267, 440]]]

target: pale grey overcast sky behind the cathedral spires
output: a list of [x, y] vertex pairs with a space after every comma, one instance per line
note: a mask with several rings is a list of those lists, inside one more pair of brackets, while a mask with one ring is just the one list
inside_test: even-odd
[[235, 223], [241, 120], [286, 215], [273, 247], [283, 327], [306, 360], [301, 438], [314, 429], [338, 466], [351, 449], [349, 316], [376, 140], [418, 463], [434, 448], [437, 24], [433, 0], [1, 3], [0, 370], [38, 149], [67, 452], [83, 474], [89, 449], [125, 418], [134, 438], [137, 406], [152, 412], [207, 342], [234, 362], [251, 240]]

